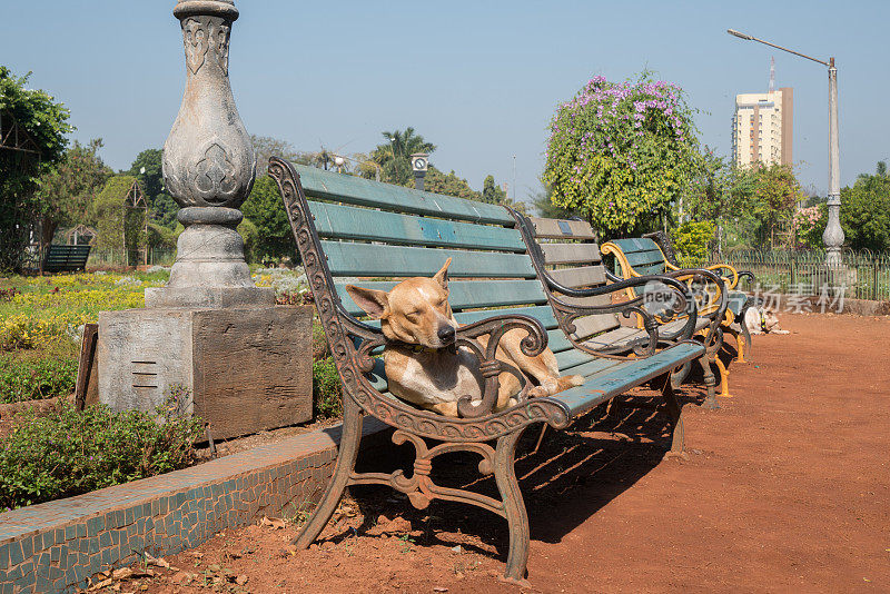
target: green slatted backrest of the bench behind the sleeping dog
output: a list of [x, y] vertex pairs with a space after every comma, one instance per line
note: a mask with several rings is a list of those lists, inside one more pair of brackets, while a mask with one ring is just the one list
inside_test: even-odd
[[294, 169], [337, 296], [349, 315], [360, 317], [364, 311], [346, 285], [388, 290], [406, 277], [432, 276], [451, 257], [448, 300], [461, 324], [505, 310], [532, 316], [547, 329], [561, 367], [590, 359], [573, 352], [560, 330], [506, 208], [314, 167]]

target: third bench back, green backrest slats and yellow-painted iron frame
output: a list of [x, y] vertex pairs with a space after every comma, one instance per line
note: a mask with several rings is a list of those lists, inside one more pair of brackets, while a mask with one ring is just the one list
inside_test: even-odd
[[[662, 241], [665, 241], [662, 238]], [[662, 250], [659, 242], [652, 236], [636, 237], [630, 239], [615, 239], [603, 244], [603, 254], [611, 254], [615, 257], [617, 268], [622, 278], [633, 278], [641, 275], [661, 275], [674, 274], [678, 277], [684, 277], [691, 270], [683, 269], [676, 264], [672, 263], [665, 251]], [[670, 249], [671, 259], [673, 259], [673, 249]], [[721, 291], [720, 297], [725, 298], [726, 307], [724, 308], [723, 317], [720, 320], [720, 330], [729, 333], [735, 338], [736, 354], [739, 360], [744, 363], [745, 352], [751, 349], [751, 335], [744, 325], [744, 314], [751, 305], [750, 297], [736, 290], [739, 280], [749, 276], [753, 279], [751, 273], [739, 273], [730, 265], [714, 265], [708, 267], [712, 274], [719, 274], [723, 279], [725, 289]], [[629, 289], [629, 295], [633, 295], [633, 289]], [[719, 309], [715, 300], [703, 304], [701, 308], [702, 314], [713, 314]], [[716, 354], [714, 354], [716, 355]], [[723, 362], [714, 356], [713, 363], [718, 366], [720, 372], [720, 395], [729, 397], [729, 370]]]

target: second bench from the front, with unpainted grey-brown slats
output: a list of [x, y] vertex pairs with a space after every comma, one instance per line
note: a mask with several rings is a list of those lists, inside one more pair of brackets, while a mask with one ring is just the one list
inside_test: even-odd
[[[610, 283], [621, 283], [623, 279], [615, 277], [603, 265], [596, 234], [591, 225], [583, 220], [558, 220], [537, 217], [522, 217], [522, 228], [526, 245], [530, 247], [533, 263], [538, 271], [538, 277], [545, 280], [544, 289], [547, 294], [561, 327], [568, 336], [572, 344], [580, 349], [594, 355], [614, 355], [635, 352], [639, 345], [646, 341], [644, 320], [640, 316], [636, 324], [622, 325], [617, 314], [599, 314], [577, 317], [566, 321], [575, 305], [602, 306], [612, 303], [615, 293]], [[688, 270], [686, 273], [692, 273]], [[709, 270], [695, 270], [701, 283], [710, 283], [718, 287], [723, 286], [722, 280]], [[678, 276], [676, 273], [670, 273]], [[627, 290], [639, 291], [639, 285], [629, 287]], [[721, 289], [723, 294], [724, 290]], [[710, 300], [710, 297], [704, 301]], [[715, 407], [716, 398], [714, 387], [716, 378], [711, 370], [711, 362], [720, 349], [722, 333], [718, 331], [726, 299], [711, 308], [709, 313], [696, 317], [681, 316], [659, 326], [659, 343], [661, 347], [670, 346], [676, 341], [686, 340], [693, 335], [702, 336], [705, 353], [699, 359], [702, 368], [704, 385], [708, 390], [705, 407]], [[708, 306], [701, 303], [699, 307]], [[657, 319], [657, 318], [656, 318]], [[674, 374], [674, 386], [679, 386], [689, 373], [689, 366]]]

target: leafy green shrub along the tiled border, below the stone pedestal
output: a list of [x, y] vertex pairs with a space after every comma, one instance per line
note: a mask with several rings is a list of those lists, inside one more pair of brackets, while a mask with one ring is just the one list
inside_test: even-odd
[[62, 403], [38, 416], [22, 413], [0, 440], [0, 507], [71, 497], [188, 466], [202, 423], [182, 410], [185, 389], [155, 413], [80, 412]]

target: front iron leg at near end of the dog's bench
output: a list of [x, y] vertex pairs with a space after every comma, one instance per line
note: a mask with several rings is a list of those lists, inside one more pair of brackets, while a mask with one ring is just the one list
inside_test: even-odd
[[528, 514], [525, 512], [525, 502], [514, 467], [516, 442], [522, 433], [517, 430], [497, 439], [494, 477], [510, 526], [510, 552], [503, 581], [527, 587], [530, 584], [525, 580], [525, 565], [528, 563]]

